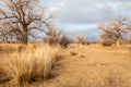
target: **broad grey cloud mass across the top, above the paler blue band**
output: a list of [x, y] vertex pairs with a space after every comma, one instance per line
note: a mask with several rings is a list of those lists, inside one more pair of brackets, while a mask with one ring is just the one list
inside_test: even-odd
[[63, 23], [97, 23], [117, 14], [131, 14], [131, 0], [44, 0], [57, 8]]

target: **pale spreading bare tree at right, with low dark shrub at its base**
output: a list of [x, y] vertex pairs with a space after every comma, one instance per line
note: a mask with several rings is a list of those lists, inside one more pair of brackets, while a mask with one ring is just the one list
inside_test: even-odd
[[111, 39], [116, 41], [117, 46], [120, 46], [120, 40], [129, 29], [129, 20], [126, 16], [119, 15], [108, 22], [102, 22], [98, 25], [103, 34], [100, 38], [104, 40]]

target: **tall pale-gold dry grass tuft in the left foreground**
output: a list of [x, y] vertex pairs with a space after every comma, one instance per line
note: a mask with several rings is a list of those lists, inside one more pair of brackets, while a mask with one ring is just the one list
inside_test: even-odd
[[9, 54], [2, 63], [2, 70], [16, 85], [45, 80], [55, 62], [57, 47], [38, 46], [31, 50], [16, 51]]

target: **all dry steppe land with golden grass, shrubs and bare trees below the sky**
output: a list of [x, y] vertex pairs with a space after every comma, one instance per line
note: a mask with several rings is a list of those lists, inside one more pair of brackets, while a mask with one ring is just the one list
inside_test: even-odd
[[99, 40], [90, 41], [47, 10], [39, 0], [0, 0], [0, 87], [131, 87], [130, 17], [98, 23]]

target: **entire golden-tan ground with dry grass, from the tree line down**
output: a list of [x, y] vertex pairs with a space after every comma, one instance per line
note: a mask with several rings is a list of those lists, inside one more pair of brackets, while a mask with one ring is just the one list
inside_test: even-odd
[[74, 44], [68, 49], [31, 45], [24, 51], [20, 45], [3, 47], [1, 87], [131, 87], [130, 45]]

